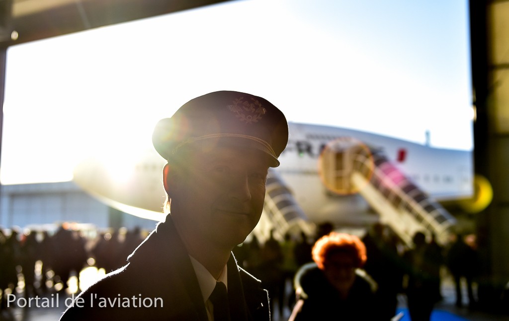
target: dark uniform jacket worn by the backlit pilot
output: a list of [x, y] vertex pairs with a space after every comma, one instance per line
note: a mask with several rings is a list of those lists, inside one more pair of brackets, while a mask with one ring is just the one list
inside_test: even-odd
[[[129, 256], [128, 264], [106, 275], [75, 300], [61, 321], [207, 321], [200, 285], [171, 216]], [[270, 320], [268, 293], [260, 280], [228, 261], [231, 319]]]

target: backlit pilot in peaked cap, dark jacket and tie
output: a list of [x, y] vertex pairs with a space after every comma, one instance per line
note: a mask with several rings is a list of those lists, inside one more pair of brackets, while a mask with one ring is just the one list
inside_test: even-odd
[[152, 140], [167, 160], [165, 221], [61, 320], [269, 320], [267, 291], [232, 249], [262, 214], [268, 169], [288, 141], [285, 116], [264, 98], [216, 91], [160, 120]]

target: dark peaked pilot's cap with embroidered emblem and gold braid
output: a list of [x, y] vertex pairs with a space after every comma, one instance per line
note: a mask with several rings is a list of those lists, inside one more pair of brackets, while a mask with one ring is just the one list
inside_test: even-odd
[[152, 135], [157, 152], [171, 162], [180, 151], [216, 146], [263, 151], [270, 167], [288, 142], [288, 123], [276, 106], [262, 97], [238, 91], [215, 91], [180, 107], [159, 120]]

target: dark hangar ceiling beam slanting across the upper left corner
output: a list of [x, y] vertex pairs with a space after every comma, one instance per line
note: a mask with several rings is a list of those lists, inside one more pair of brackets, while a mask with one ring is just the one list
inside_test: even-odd
[[[225, 0], [0, 0], [2, 43], [12, 46]], [[9, 19], [11, 12], [11, 19]], [[1, 13], [1, 12], [0, 12]], [[17, 39], [11, 40], [11, 31]]]

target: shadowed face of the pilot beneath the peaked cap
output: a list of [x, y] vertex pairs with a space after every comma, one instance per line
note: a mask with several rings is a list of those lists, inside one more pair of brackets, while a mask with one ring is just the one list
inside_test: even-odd
[[257, 150], [230, 147], [192, 156], [173, 193], [182, 212], [172, 215], [188, 236], [224, 247], [242, 243], [262, 214], [266, 158]]

